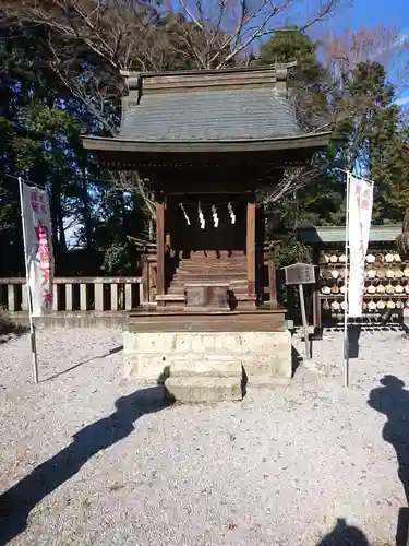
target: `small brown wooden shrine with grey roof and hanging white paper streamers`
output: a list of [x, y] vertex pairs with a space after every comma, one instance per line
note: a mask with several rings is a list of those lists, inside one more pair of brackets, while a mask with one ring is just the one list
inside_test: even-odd
[[156, 195], [156, 307], [135, 310], [129, 333], [284, 332], [274, 272], [262, 305], [256, 191], [328, 142], [297, 122], [290, 66], [127, 73], [119, 133], [83, 139], [100, 165], [137, 170]]

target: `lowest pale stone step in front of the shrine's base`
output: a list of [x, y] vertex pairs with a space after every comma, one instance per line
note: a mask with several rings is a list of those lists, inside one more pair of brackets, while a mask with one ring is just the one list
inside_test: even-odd
[[166, 396], [182, 403], [238, 402], [243, 397], [240, 377], [172, 377], [165, 381]]

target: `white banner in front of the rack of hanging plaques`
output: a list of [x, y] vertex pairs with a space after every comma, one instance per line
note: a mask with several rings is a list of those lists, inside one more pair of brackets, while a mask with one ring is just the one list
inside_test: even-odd
[[365, 257], [370, 240], [373, 183], [349, 176], [349, 283], [348, 317], [362, 316]]

